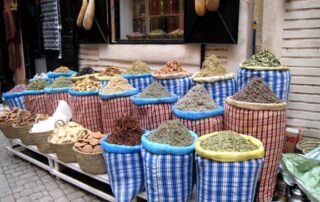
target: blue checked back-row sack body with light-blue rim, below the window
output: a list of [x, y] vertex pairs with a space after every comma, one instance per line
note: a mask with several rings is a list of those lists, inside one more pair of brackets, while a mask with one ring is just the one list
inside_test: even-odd
[[129, 84], [141, 92], [147, 86], [154, 82], [151, 73], [147, 74], [123, 74], [123, 78], [127, 79]]

